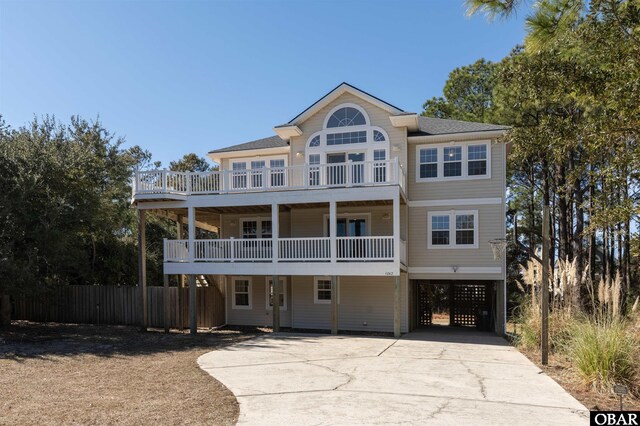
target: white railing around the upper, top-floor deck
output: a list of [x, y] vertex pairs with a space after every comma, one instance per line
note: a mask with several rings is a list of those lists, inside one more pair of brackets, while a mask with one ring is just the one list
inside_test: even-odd
[[226, 194], [353, 186], [406, 185], [398, 159], [335, 164], [303, 164], [251, 170], [136, 172], [133, 194]]

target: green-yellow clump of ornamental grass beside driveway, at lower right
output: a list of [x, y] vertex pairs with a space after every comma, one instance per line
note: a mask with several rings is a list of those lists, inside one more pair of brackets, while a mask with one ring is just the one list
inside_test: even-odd
[[567, 353], [585, 382], [596, 390], [614, 384], [633, 388], [638, 354], [637, 337], [620, 320], [580, 321], [571, 327]]

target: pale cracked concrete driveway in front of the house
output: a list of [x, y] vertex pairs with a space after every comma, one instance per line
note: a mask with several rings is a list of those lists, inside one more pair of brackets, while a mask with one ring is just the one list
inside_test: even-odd
[[582, 404], [488, 333], [279, 333], [198, 363], [236, 395], [240, 424], [589, 423]]

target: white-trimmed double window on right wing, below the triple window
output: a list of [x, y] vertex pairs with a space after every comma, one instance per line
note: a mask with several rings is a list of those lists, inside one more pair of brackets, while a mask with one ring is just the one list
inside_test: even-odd
[[478, 248], [478, 211], [429, 212], [427, 247]]

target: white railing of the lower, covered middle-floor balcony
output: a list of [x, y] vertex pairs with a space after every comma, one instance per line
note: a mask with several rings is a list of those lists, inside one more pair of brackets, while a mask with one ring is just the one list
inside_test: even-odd
[[[272, 262], [271, 239], [194, 240], [193, 258], [189, 240], [165, 240], [165, 262]], [[277, 240], [278, 262], [329, 262], [331, 238], [280, 238]], [[338, 262], [392, 262], [394, 238], [337, 237]]]

